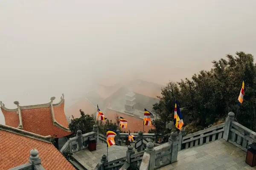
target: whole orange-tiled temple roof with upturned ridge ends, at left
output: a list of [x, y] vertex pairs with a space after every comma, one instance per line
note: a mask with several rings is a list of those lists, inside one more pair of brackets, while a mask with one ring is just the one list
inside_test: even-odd
[[49, 103], [30, 106], [20, 106], [19, 102], [15, 101], [15, 109], [8, 109], [0, 102], [6, 125], [42, 136], [60, 138], [70, 135], [71, 131], [68, 129], [64, 113], [64, 94], [61, 101], [56, 104], [52, 103], [54, 99], [55, 97], [51, 97]]

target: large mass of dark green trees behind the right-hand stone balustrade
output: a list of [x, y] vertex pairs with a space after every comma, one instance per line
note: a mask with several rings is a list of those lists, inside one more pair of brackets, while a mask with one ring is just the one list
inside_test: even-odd
[[[160, 102], [153, 107], [159, 118], [153, 121], [157, 132], [170, 133], [166, 123], [173, 121], [176, 99], [181, 108], [186, 133], [223, 122], [231, 111], [235, 113], [237, 122], [255, 131], [256, 65], [251, 54], [236, 52], [236, 55], [227, 55], [227, 59], [213, 61], [210, 71], [200, 71], [191, 79], [169, 82], [162, 89], [162, 96], [158, 96]], [[244, 102], [238, 108], [237, 99], [243, 79]]]

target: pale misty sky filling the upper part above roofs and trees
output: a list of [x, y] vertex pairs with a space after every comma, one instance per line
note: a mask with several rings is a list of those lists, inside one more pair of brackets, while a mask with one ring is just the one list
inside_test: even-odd
[[15, 108], [64, 93], [68, 105], [101, 79], [165, 85], [228, 53], [255, 55], [255, 8], [256, 0], [0, 0], [0, 100]]

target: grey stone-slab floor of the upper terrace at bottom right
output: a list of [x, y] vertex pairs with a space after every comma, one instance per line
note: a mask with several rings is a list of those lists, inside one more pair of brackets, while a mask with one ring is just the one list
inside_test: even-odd
[[245, 163], [246, 152], [224, 139], [178, 152], [178, 161], [158, 170], [256, 170]]

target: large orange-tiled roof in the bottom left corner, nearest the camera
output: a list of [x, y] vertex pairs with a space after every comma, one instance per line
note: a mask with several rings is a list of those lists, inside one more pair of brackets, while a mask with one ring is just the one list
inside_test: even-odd
[[14, 127], [0, 125], [0, 170], [29, 162], [29, 151], [37, 149], [46, 170], [76, 170], [50, 142], [51, 136], [40, 136]]

